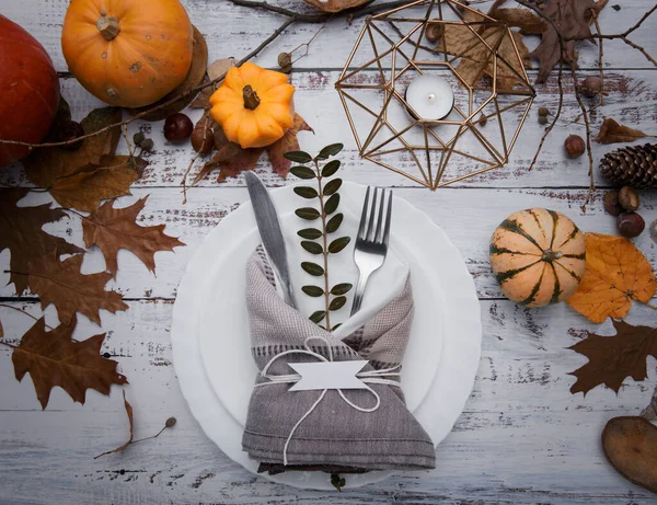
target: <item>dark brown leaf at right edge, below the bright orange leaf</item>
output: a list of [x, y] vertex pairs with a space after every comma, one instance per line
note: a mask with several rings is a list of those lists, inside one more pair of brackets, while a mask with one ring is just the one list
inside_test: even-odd
[[577, 377], [570, 388], [573, 394], [581, 391], [586, 395], [599, 385], [618, 393], [626, 377], [634, 380], [647, 377], [646, 358], [657, 358], [657, 329], [633, 326], [625, 321], [612, 322], [615, 335], [601, 336], [587, 332], [586, 338], [569, 347], [589, 358], [586, 365], [570, 372]]

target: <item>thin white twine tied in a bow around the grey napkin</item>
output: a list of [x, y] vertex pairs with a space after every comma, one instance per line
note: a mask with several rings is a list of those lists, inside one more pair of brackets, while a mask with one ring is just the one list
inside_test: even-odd
[[[312, 340], [322, 341], [322, 343], [324, 345], [326, 345], [326, 347], [328, 349], [328, 359], [326, 359], [323, 355], [312, 351], [312, 348], [309, 345], [309, 342]], [[299, 374], [281, 374], [281, 375], [267, 374], [269, 370], [269, 367], [274, 364], [274, 361], [276, 361], [277, 359], [279, 359], [284, 356], [289, 356], [292, 354], [303, 354], [306, 356], [311, 356], [311, 357], [318, 358], [321, 361], [333, 361], [333, 348], [331, 347], [331, 344], [328, 343], [328, 341], [323, 336], [319, 336], [319, 335], [309, 336], [303, 342], [303, 347], [306, 347], [306, 348], [304, 349], [284, 351], [283, 353], [279, 353], [276, 356], [274, 356], [272, 359], [269, 359], [269, 361], [267, 361], [267, 364], [263, 367], [263, 369], [261, 370], [261, 374], [260, 374], [261, 377], [263, 377], [264, 379], [268, 379], [268, 382], [261, 382], [261, 383], [255, 385], [255, 387], [258, 388], [261, 386], [296, 383], [299, 380], [301, 380], [301, 376]], [[359, 371], [358, 374], [356, 374], [356, 377], [359, 378], [361, 382], [366, 383], [365, 389], [367, 391], [369, 391], [370, 393], [372, 393], [374, 395], [374, 398], [377, 399], [373, 406], [365, 408], [365, 406], [356, 405], [353, 401], [350, 401], [347, 397], [345, 397], [345, 393], [342, 391], [342, 389], [338, 389], [337, 392], [341, 395], [341, 398], [345, 401], [345, 403], [347, 403], [347, 405], [351, 406], [353, 409], [356, 409], [359, 412], [367, 412], [367, 413], [374, 412], [376, 410], [379, 409], [379, 405], [381, 404], [381, 398], [373, 389], [371, 389], [367, 385], [368, 383], [385, 385], [385, 386], [394, 386], [394, 387], [399, 388], [400, 387], [399, 380], [384, 379], [383, 377], [385, 377], [385, 376], [399, 377], [401, 374], [395, 370], [397, 370], [400, 368], [400, 366], [401, 365], [396, 365], [396, 366], [390, 367], [390, 368], [381, 368], [379, 370]], [[287, 450], [288, 450], [288, 446], [290, 445], [290, 440], [292, 439], [292, 436], [295, 435], [295, 432], [301, 425], [301, 423], [306, 420], [306, 417], [308, 417], [310, 414], [312, 414], [312, 412], [315, 410], [315, 408], [322, 402], [322, 400], [326, 395], [326, 391], [328, 391], [328, 389], [324, 389], [322, 391], [320, 397], [314, 401], [314, 403], [310, 406], [310, 409], [306, 412], [306, 414], [303, 414], [301, 416], [301, 418], [299, 421], [297, 421], [297, 423], [290, 431], [290, 434], [288, 435], [287, 440], [285, 441], [285, 446], [283, 447], [283, 464], [284, 466], [287, 467], [287, 463], [288, 463]]]

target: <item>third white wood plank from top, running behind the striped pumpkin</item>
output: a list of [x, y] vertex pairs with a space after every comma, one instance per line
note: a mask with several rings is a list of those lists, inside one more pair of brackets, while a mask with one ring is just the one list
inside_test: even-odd
[[[129, 205], [138, 197], [149, 195], [140, 216], [142, 225], [165, 223], [166, 232], [181, 238], [186, 248], [177, 248], [174, 253], [161, 252], [155, 256], [158, 275], [151, 275], [131, 253], [120, 251], [116, 282], [107, 288], [118, 289], [126, 298], [172, 298], [183, 275], [185, 265], [196, 248], [221, 218], [247, 199], [245, 188], [221, 191], [196, 188], [188, 193], [187, 204], [182, 205], [182, 194], [173, 188], [136, 188], [132, 197], [124, 197], [118, 205]], [[2, 190], [0, 188], [0, 195]], [[431, 193], [424, 188], [399, 188], [395, 194], [412, 202], [440, 226], [461, 251], [464, 261], [475, 278], [479, 296], [499, 298], [497, 282], [492, 275], [488, 262], [488, 241], [493, 230], [511, 213], [530, 207], [544, 207], [569, 216], [585, 231], [615, 233], [615, 220], [601, 208], [601, 192], [597, 192], [589, 209], [580, 209], [586, 199], [586, 190], [474, 190], [443, 188]], [[47, 196], [34, 193], [28, 197], [32, 205]], [[641, 214], [647, 222], [657, 218], [657, 195], [642, 193]], [[54, 233], [65, 233], [69, 240], [83, 245], [79, 217], [72, 216], [60, 223], [48, 225], [45, 229]], [[394, 232], [394, 231], [393, 231]], [[644, 232], [635, 240], [652, 264], [657, 264], [657, 244]], [[0, 253], [0, 262], [7, 265], [9, 252]], [[92, 250], [83, 264], [84, 273], [99, 272], [104, 267], [99, 250]], [[14, 296], [13, 285], [4, 286], [9, 275], [0, 273], [0, 296]]]

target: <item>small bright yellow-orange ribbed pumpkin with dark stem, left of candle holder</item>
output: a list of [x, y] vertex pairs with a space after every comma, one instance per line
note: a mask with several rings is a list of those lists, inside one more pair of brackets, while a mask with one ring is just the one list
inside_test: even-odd
[[292, 95], [285, 73], [252, 62], [231, 68], [210, 96], [210, 115], [226, 137], [242, 149], [265, 147], [295, 124]]

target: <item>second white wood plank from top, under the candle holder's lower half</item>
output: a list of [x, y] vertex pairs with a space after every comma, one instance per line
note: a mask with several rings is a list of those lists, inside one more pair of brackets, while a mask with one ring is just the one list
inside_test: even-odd
[[[583, 72], [584, 74], [595, 74], [595, 72]], [[373, 73], [368, 74], [374, 79]], [[654, 72], [643, 71], [610, 71], [607, 76], [607, 89], [609, 96], [606, 97], [606, 105], [591, 114], [591, 125], [593, 136], [600, 129], [606, 117], [613, 117], [629, 126], [643, 129], [648, 134], [656, 134], [655, 120], [657, 119], [657, 85], [653, 77]], [[368, 184], [376, 181], [379, 185], [385, 186], [408, 186], [419, 187], [417, 183], [410, 179], [397, 175], [383, 169], [370, 161], [359, 157], [357, 146], [349, 129], [346, 114], [344, 113], [337, 91], [334, 83], [338, 78], [338, 72], [316, 71], [295, 73], [293, 82], [297, 85], [296, 94], [297, 111], [302, 114], [308, 123], [314, 128], [315, 134], [301, 133], [299, 140], [303, 149], [311, 152], [318, 151], [323, 146], [341, 141], [345, 145], [345, 150], [341, 153], [341, 159], [345, 165], [344, 176], [361, 184]], [[73, 80], [61, 81], [62, 94], [70, 102], [73, 116], [82, 118], [91, 108], [102, 106], [102, 103], [90, 95], [80, 84]], [[570, 134], [584, 136], [583, 125], [569, 124], [579, 115], [579, 108], [574, 97], [572, 85], [565, 87], [565, 105], [563, 112], [563, 122], [554, 129], [548, 142], [545, 144], [541, 158], [534, 169], [529, 172], [527, 169], [535, 153], [544, 126], [538, 123], [538, 108], [545, 106], [552, 112], [557, 110], [558, 88], [556, 78], [551, 78], [545, 85], [538, 89], [538, 97], [532, 106], [525, 127], [511, 152], [509, 163], [502, 169], [477, 175], [472, 179], [457, 183], [459, 187], [587, 187], [588, 177], [588, 158], [586, 156], [578, 160], [567, 159], [563, 149], [565, 138]], [[591, 102], [592, 104], [593, 102]], [[199, 111], [187, 111], [196, 120], [200, 117]], [[522, 113], [521, 108], [509, 111], [509, 122], [506, 125], [515, 126]], [[127, 116], [126, 116], [127, 117]], [[181, 184], [183, 174], [192, 160], [194, 151], [188, 142], [182, 145], [171, 144], [164, 139], [162, 134], [162, 123], [137, 122], [130, 125], [130, 136], [138, 129], [143, 130], [154, 141], [154, 153], [148, 156], [151, 163], [145, 171], [143, 177], [137, 181], [136, 187], [153, 186], [174, 186]], [[484, 134], [496, 135], [497, 126], [489, 122], [482, 129]], [[507, 129], [508, 131], [508, 129]], [[362, 134], [361, 134], [362, 135]], [[464, 139], [466, 140], [466, 139]], [[649, 139], [648, 139], [649, 140]], [[636, 144], [644, 144], [646, 140], [639, 140]], [[610, 152], [623, 145], [603, 146], [593, 144], [596, 183], [600, 187], [608, 186], [609, 183], [602, 179], [598, 170], [598, 160], [604, 153]], [[465, 147], [476, 149], [466, 144]], [[119, 152], [127, 153], [125, 142], [122, 140]], [[402, 170], [417, 172], [411, 159], [388, 158], [388, 162]], [[201, 163], [198, 162], [192, 171], [194, 175], [199, 170]], [[476, 169], [476, 165], [464, 158], [454, 157], [449, 164], [450, 176], [463, 175]], [[285, 181], [272, 173], [267, 157], [263, 156], [258, 167], [258, 173], [270, 185], [281, 185]], [[228, 181], [218, 184], [216, 182], [218, 171], [215, 171], [199, 183], [204, 187], [229, 187], [243, 186], [243, 177], [230, 177]], [[24, 172], [20, 164], [11, 169], [5, 169], [0, 173], [0, 182], [4, 184], [26, 184]]]

